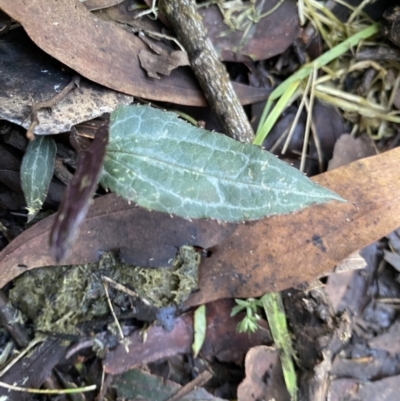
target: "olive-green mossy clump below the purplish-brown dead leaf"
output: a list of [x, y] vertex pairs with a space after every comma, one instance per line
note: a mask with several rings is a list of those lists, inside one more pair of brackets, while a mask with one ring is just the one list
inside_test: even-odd
[[[98, 263], [30, 270], [14, 280], [9, 298], [36, 329], [77, 333], [79, 323], [110, 312], [101, 276], [160, 308], [183, 303], [197, 289], [199, 264], [200, 255], [190, 246], [179, 249], [172, 267], [159, 269], [124, 265], [105, 253]], [[129, 310], [128, 295], [111, 286], [108, 291], [117, 312]]]

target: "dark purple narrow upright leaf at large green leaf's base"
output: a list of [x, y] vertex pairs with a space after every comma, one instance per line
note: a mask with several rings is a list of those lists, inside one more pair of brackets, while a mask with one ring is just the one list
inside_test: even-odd
[[50, 233], [50, 245], [56, 260], [64, 258], [73, 245], [78, 228], [89, 210], [96, 190], [108, 143], [107, 126], [100, 127], [93, 142], [78, 155], [74, 177], [65, 191]]

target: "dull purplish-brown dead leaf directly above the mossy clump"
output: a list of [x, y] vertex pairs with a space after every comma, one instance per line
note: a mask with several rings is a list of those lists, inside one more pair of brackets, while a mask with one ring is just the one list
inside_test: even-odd
[[[24, 231], [0, 253], [0, 287], [26, 270], [55, 266], [49, 246], [54, 223], [50, 216]], [[149, 212], [115, 194], [96, 199], [80, 226], [77, 242], [63, 264], [98, 260], [100, 253], [118, 251], [121, 261], [136, 266], [168, 266], [182, 245], [210, 248], [230, 235], [235, 224], [193, 222]]]

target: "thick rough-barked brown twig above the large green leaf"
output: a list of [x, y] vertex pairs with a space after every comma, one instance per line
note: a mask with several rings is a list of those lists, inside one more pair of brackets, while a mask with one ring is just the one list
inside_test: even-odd
[[254, 133], [207, 31], [194, 0], [159, 0], [159, 10], [169, 19], [188, 53], [190, 65], [204, 96], [224, 133], [240, 142], [252, 142]]

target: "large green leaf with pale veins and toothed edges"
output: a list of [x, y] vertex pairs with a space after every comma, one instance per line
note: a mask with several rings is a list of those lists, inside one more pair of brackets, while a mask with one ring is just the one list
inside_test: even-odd
[[259, 146], [149, 106], [111, 114], [101, 183], [147, 209], [229, 222], [343, 201]]

